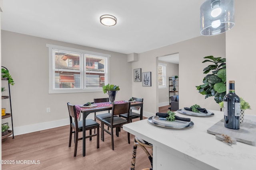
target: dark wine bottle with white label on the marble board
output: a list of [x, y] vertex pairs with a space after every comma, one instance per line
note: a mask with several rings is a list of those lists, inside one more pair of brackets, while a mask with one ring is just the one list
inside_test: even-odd
[[229, 81], [229, 93], [223, 98], [224, 125], [229, 129], [240, 128], [240, 98], [235, 94], [235, 81]]

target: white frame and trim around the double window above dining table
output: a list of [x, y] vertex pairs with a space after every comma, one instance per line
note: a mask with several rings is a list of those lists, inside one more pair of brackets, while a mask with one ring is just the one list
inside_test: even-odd
[[[70, 52], [74, 52], [74, 53], [81, 53], [82, 56], [82, 63], [80, 62], [80, 64], [82, 64], [82, 66], [84, 65], [84, 58], [86, 57], [86, 55], [96, 55], [99, 57], [105, 57], [105, 63], [106, 63], [106, 70], [105, 70], [105, 85], [108, 84], [109, 82], [109, 77], [110, 77], [110, 57], [111, 55], [109, 54], [104, 54], [104, 53], [98, 53], [98, 52], [94, 52], [94, 51], [86, 51], [86, 50], [82, 50], [82, 49], [74, 49], [74, 48], [70, 48], [70, 47], [63, 47], [63, 46], [59, 46], [59, 45], [52, 45], [52, 44], [46, 44], [46, 47], [48, 47], [49, 49], [49, 94], [61, 94], [61, 93], [83, 93], [83, 92], [102, 92], [102, 87], [98, 87], [98, 88], [85, 88], [86, 86], [86, 70], [82, 69], [79, 70], [78, 72], [80, 72], [81, 74], [81, 79], [80, 79], [80, 88], [79, 89], [71, 89], [71, 88], [67, 88], [67, 89], [54, 89], [54, 80], [53, 78], [55, 77], [55, 70], [54, 70], [54, 50], [58, 49], [58, 50], [63, 50], [63, 51], [70, 51]], [[73, 62], [72, 62], [73, 64]], [[80, 65], [81, 67], [81, 65]]]

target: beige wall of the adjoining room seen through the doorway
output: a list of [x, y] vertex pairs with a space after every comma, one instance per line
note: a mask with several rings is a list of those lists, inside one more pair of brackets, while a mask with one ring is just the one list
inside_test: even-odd
[[[179, 64], [167, 63], [164, 61], [158, 61], [158, 63], [166, 64], [166, 88], [162, 88], [162, 89], [157, 88], [159, 106], [166, 106], [166, 105], [169, 105], [169, 102], [170, 102], [169, 101], [169, 77], [179, 75]], [[170, 93], [170, 95], [172, 96], [173, 93]]]

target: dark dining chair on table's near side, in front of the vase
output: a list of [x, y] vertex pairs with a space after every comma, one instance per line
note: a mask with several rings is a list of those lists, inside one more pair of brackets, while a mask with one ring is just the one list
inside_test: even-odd
[[[123, 104], [113, 104], [112, 105], [112, 113], [110, 118], [102, 119], [102, 141], [104, 141], [104, 131], [111, 135], [111, 144], [112, 144], [112, 150], [114, 150], [114, 134], [113, 129], [116, 128], [116, 136], [119, 136], [119, 129], [122, 127], [122, 125], [129, 122], [129, 111], [130, 111], [130, 102], [123, 103]], [[118, 117], [116, 115], [128, 113], [128, 119], [123, 119], [121, 117]], [[111, 131], [108, 131], [107, 129], [104, 129], [104, 125], [107, 125], [110, 127]], [[127, 132], [128, 136], [128, 143], [130, 144], [130, 133]]]

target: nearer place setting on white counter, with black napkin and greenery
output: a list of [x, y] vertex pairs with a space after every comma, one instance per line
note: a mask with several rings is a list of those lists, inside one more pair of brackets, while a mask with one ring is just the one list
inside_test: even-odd
[[167, 113], [156, 113], [155, 116], [149, 117], [148, 121], [153, 125], [170, 129], [188, 129], [194, 126], [190, 118], [179, 117], [170, 110]]

